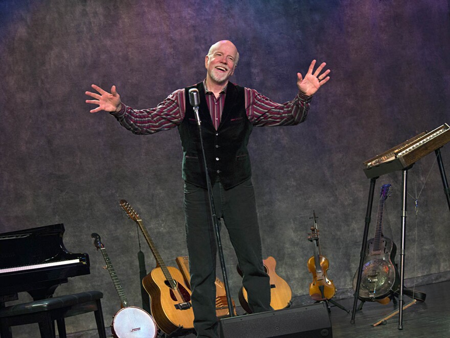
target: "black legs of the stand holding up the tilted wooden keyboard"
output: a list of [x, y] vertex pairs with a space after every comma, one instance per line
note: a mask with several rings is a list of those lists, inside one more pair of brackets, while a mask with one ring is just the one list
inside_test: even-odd
[[[444, 166], [442, 164], [440, 148], [436, 149], [435, 153], [436, 153], [436, 158], [437, 158], [438, 165], [439, 165], [439, 171], [441, 174], [442, 184], [444, 186], [444, 194], [447, 199], [448, 210], [450, 212], [450, 189], [448, 188], [447, 178], [445, 175]], [[404, 305], [403, 295], [406, 294], [408, 291], [412, 291], [412, 290], [406, 289], [403, 284], [404, 284], [404, 254], [405, 254], [405, 238], [406, 238], [407, 197], [408, 197], [408, 192], [407, 192], [408, 170], [413, 165], [414, 165], [414, 163], [412, 163], [410, 166], [408, 166], [406, 168], [403, 168], [402, 177], [401, 177], [402, 208], [401, 208], [401, 246], [400, 246], [400, 290], [398, 292], [398, 301], [400, 304], [398, 307], [398, 327], [397, 327], [399, 330], [403, 330], [403, 305]], [[356, 281], [356, 290], [354, 293], [352, 316], [351, 316], [351, 320], [350, 320], [351, 324], [355, 323], [356, 305], [358, 302], [359, 287], [361, 286], [360, 284], [361, 284], [362, 272], [363, 272], [363, 264], [364, 264], [364, 256], [365, 256], [364, 253], [365, 253], [366, 244], [367, 244], [367, 235], [369, 233], [370, 215], [372, 213], [373, 193], [375, 190], [375, 181], [378, 177], [379, 176], [372, 177], [370, 179], [369, 199], [367, 202], [366, 219], [365, 219], [365, 226], [364, 226], [363, 243], [362, 243], [362, 247], [361, 247], [361, 255], [359, 256], [358, 278]], [[404, 291], [407, 291], [407, 292], [404, 292]], [[424, 293], [422, 293], [422, 292], [413, 291], [414, 299], [416, 299], [416, 297], [420, 298], [420, 293], [424, 295]], [[425, 298], [423, 297], [423, 299], [421, 299], [421, 301], [424, 301], [424, 300], [425, 300]]]

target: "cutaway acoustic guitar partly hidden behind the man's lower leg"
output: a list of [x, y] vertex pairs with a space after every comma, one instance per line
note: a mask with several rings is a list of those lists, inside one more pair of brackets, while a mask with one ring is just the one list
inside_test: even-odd
[[[292, 291], [290, 290], [290, 287], [286, 283], [286, 281], [278, 276], [278, 274], [275, 272], [275, 266], [277, 265], [275, 258], [269, 256], [265, 260], [263, 260], [262, 263], [264, 264], [265, 272], [271, 279], [271, 307], [274, 310], [280, 310], [289, 307], [291, 303], [290, 301], [292, 299]], [[240, 274], [240, 276], [242, 276], [242, 271], [239, 266], [237, 266], [237, 272]], [[245, 312], [253, 312], [249, 306], [247, 290], [245, 290], [243, 286], [239, 290], [239, 303], [241, 304]]]

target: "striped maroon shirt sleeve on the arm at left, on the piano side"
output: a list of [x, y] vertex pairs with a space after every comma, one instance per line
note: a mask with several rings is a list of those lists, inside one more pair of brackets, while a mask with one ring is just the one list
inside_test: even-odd
[[135, 110], [122, 103], [122, 109], [111, 115], [134, 134], [153, 134], [175, 128], [185, 115], [185, 90], [174, 91], [156, 108]]

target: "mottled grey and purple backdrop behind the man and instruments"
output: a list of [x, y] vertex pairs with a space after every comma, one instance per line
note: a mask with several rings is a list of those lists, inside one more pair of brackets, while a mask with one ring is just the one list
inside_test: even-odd
[[[130, 303], [141, 306], [137, 226], [119, 200], [137, 210], [166, 264], [176, 266], [187, 254], [182, 151], [176, 130], [137, 136], [106, 113], [89, 114], [84, 92], [92, 83], [116, 85], [126, 104], [154, 107], [204, 79], [204, 57], [219, 39], [240, 51], [233, 81], [279, 102], [294, 98], [296, 73], [313, 58], [331, 69], [305, 123], [256, 128], [250, 142], [263, 255], [275, 257], [304, 302], [312, 302], [312, 211], [336, 298], [348, 297], [369, 191], [362, 162], [450, 122], [447, 0], [0, 1], [0, 232], [64, 223], [66, 248], [89, 254], [91, 274], [55, 294], [101, 290], [106, 325], [120, 302], [90, 235], [102, 236]], [[442, 157], [450, 173], [449, 149]], [[377, 180], [372, 215], [379, 187], [391, 183], [384, 228], [398, 246], [400, 174]], [[448, 278], [450, 217], [434, 153], [413, 166], [408, 184], [408, 286], [414, 277]], [[139, 236], [149, 272], [155, 262]], [[226, 231], [222, 240], [237, 301]], [[68, 332], [95, 327], [92, 314], [83, 316], [67, 321]]]

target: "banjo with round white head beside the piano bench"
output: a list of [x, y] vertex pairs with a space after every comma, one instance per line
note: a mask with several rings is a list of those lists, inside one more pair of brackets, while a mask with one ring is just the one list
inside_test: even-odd
[[111, 333], [115, 338], [155, 338], [156, 333], [158, 333], [158, 327], [156, 327], [152, 316], [139, 307], [128, 306], [126, 295], [117, 278], [116, 270], [113, 264], [111, 264], [106, 249], [100, 241], [100, 236], [92, 233], [91, 237], [94, 238], [94, 245], [97, 250], [100, 249], [102, 252], [106, 262], [106, 268], [109, 271], [122, 303], [122, 309], [114, 315], [113, 323], [111, 324]]

